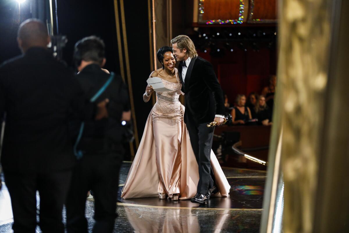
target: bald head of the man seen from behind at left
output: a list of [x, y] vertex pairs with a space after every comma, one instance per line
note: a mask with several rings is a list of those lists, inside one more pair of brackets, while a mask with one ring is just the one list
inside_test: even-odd
[[25, 53], [31, 47], [47, 48], [50, 36], [43, 22], [37, 19], [28, 19], [21, 23], [18, 29], [17, 42]]

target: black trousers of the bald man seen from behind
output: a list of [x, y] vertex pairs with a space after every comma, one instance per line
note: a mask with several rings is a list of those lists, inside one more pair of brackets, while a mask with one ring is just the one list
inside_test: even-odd
[[39, 226], [42, 232], [64, 232], [62, 209], [69, 188], [71, 170], [50, 173], [19, 173], [4, 170], [14, 223], [14, 233], [34, 233], [36, 191], [40, 195]]

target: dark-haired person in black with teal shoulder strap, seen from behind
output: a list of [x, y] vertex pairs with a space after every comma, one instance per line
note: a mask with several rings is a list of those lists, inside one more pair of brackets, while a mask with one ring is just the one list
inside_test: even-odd
[[[119, 169], [123, 149], [121, 121], [129, 121], [127, 89], [120, 76], [101, 68], [105, 63], [104, 43], [95, 36], [75, 45], [74, 59], [80, 71], [76, 78], [88, 99], [109, 99], [108, 117], [85, 121], [75, 144], [77, 165], [67, 198], [67, 232], [87, 232], [86, 193], [94, 192], [93, 232], [112, 232], [116, 215]], [[100, 94], [98, 96], [98, 94]], [[81, 158], [80, 158], [81, 157]]]

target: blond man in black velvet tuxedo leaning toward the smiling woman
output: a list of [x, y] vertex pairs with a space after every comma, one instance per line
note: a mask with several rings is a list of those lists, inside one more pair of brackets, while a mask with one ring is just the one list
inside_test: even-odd
[[218, 192], [210, 165], [214, 128], [208, 128], [207, 124], [212, 121], [222, 124], [223, 92], [212, 65], [198, 57], [188, 36], [177, 36], [171, 43], [176, 59], [180, 61], [178, 73], [185, 93], [184, 122], [199, 166], [198, 190], [191, 202], [203, 204], [211, 194]]

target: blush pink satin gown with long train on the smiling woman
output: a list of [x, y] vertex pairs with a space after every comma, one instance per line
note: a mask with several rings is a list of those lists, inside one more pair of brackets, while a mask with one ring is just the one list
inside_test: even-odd
[[[199, 181], [198, 164], [183, 122], [184, 106], [178, 98], [178, 83], [162, 80], [169, 92], [157, 92], [157, 101], [150, 111], [143, 137], [129, 170], [121, 197], [124, 199], [156, 197], [166, 193], [169, 197], [179, 193], [180, 199], [195, 196]], [[220, 192], [216, 196], [229, 196], [230, 185], [211, 151], [211, 166]]]

